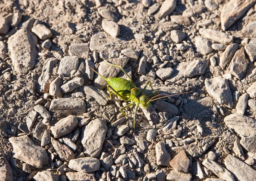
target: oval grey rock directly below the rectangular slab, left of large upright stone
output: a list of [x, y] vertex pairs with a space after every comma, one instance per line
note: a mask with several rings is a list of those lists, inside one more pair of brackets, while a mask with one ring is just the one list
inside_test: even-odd
[[60, 138], [71, 133], [76, 128], [77, 124], [78, 120], [76, 119], [76, 116], [70, 115], [52, 125], [50, 131], [53, 134], [54, 138]]

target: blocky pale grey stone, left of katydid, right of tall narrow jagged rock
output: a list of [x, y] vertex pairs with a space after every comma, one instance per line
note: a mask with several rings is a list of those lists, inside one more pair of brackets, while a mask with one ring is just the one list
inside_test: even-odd
[[60, 66], [58, 68], [58, 74], [64, 76], [70, 76], [71, 71], [77, 70], [79, 60], [77, 56], [67, 56], [61, 59]]

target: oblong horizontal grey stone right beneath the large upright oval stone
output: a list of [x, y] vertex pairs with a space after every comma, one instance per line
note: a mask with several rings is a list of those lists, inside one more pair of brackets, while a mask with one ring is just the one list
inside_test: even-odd
[[79, 172], [95, 172], [100, 168], [100, 162], [97, 158], [84, 157], [69, 161], [68, 167]]

